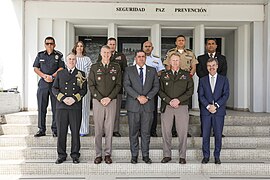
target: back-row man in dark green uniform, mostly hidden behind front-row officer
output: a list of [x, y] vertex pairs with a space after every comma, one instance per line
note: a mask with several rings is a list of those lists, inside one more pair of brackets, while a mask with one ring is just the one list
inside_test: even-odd
[[[116, 39], [111, 37], [107, 41], [107, 46], [110, 47], [111, 50], [111, 58], [110, 62], [114, 62], [120, 65], [122, 74], [124, 73], [125, 68], [127, 67], [127, 59], [126, 56], [116, 51]], [[102, 59], [101, 55], [98, 57], [98, 62], [100, 62]], [[123, 79], [122, 79], [123, 82]], [[123, 95], [123, 88], [121, 88], [119, 94], [117, 95], [116, 99], [116, 114], [115, 114], [115, 121], [114, 121], [114, 130], [113, 130], [113, 136], [115, 137], [121, 137], [121, 134], [119, 133], [119, 120], [120, 120], [120, 111], [121, 111], [121, 103], [122, 103], [122, 95]]]

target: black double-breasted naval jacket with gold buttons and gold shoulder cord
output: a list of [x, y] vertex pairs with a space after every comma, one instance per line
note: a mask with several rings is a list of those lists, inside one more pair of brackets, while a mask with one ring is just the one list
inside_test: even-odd
[[[59, 71], [53, 82], [52, 92], [56, 96], [56, 109], [82, 109], [82, 98], [87, 93], [87, 80], [83, 71], [75, 68], [70, 74], [67, 69]], [[66, 105], [63, 100], [72, 97], [75, 103]]]

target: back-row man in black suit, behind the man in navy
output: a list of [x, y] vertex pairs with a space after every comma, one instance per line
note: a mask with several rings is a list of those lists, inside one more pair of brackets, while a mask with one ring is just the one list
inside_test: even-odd
[[[209, 38], [206, 40], [205, 44], [206, 53], [203, 55], [198, 56], [199, 64], [197, 64], [196, 67], [196, 74], [199, 78], [202, 78], [204, 76], [207, 76], [209, 74], [206, 63], [209, 58], [215, 58], [218, 61], [218, 69], [217, 73], [223, 76], [227, 75], [227, 61], [226, 57], [217, 53], [217, 41], [214, 38]], [[201, 132], [202, 132], [202, 126], [201, 126]], [[202, 133], [201, 133], [202, 136]], [[225, 137], [222, 135], [222, 137]]]

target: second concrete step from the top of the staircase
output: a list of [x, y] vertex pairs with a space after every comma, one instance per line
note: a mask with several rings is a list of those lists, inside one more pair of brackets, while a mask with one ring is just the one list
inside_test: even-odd
[[[90, 135], [94, 135], [94, 125], [89, 125]], [[47, 134], [51, 133], [50, 126], [47, 126]], [[192, 136], [200, 136], [200, 125], [189, 125], [189, 133]], [[26, 134], [34, 135], [38, 131], [36, 125], [32, 124], [2, 124], [0, 125], [0, 134], [15, 135]], [[120, 126], [120, 133], [124, 137], [128, 137], [128, 124]], [[161, 125], [157, 126], [157, 134], [161, 136]], [[270, 136], [270, 126], [224, 126], [223, 134], [226, 136]]]

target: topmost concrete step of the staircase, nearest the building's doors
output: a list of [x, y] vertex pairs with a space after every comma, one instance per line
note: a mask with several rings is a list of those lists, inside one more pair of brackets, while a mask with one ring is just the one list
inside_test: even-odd
[[[256, 126], [270, 126], [270, 114], [268, 113], [248, 113], [240, 114], [229, 111], [225, 117], [225, 125], [256, 125]], [[249, 115], [249, 116], [247, 116]], [[122, 111], [120, 116], [121, 124], [128, 124], [128, 118], [125, 111]], [[48, 112], [47, 124], [51, 124], [52, 115]], [[13, 114], [5, 115], [3, 122], [8, 124], [37, 124], [37, 112], [19, 112]], [[158, 118], [158, 123], [160, 124], [160, 117]], [[200, 124], [199, 112], [190, 112], [190, 124]], [[94, 124], [92, 118], [92, 112], [90, 115], [90, 124]]]

